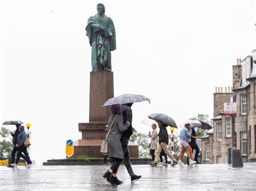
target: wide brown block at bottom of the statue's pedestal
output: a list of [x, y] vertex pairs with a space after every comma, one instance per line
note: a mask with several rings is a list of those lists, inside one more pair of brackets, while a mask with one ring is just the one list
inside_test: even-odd
[[[79, 139], [73, 143], [74, 154], [73, 155], [86, 155], [88, 157], [104, 157], [100, 153], [100, 145], [103, 139]], [[139, 147], [137, 144], [129, 142], [129, 149], [132, 158], [139, 157]]]

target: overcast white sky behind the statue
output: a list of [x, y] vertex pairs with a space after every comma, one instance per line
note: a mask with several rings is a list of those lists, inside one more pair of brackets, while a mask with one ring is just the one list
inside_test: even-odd
[[[89, 120], [91, 47], [87, 19], [99, 1], [1, 2], [1, 123], [32, 124], [37, 164], [65, 157], [67, 139]], [[133, 126], [153, 112], [177, 124], [213, 114], [216, 86], [232, 86], [232, 65], [255, 48], [254, 1], [109, 2], [116, 27], [114, 95], [143, 94]]]

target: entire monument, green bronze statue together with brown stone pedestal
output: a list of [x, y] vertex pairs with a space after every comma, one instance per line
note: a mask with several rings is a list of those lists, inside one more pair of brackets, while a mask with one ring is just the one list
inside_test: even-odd
[[[92, 47], [90, 72], [89, 123], [79, 123], [82, 139], [73, 143], [73, 155], [104, 157], [100, 145], [106, 137], [106, 125], [111, 115], [110, 107], [102, 105], [114, 97], [111, 51], [116, 49], [116, 31], [110, 17], [105, 15], [105, 6], [97, 5], [98, 13], [88, 19], [86, 36]], [[138, 158], [138, 145], [130, 142], [131, 157]]]

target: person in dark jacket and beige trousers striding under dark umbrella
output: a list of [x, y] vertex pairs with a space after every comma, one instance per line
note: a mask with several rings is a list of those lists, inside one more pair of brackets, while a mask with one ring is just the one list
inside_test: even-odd
[[166, 130], [167, 124], [164, 124], [161, 121], [157, 121], [158, 126], [160, 128], [159, 134], [158, 134], [158, 147], [157, 147], [157, 155], [156, 158], [154, 159], [154, 162], [152, 162], [150, 165], [151, 166], [157, 166], [157, 163], [159, 161], [159, 156], [161, 150], [164, 150], [164, 152], [173, 160], [172, 166], [177, 165], [178, 161], [173, 157], [171, 152], [168, 150], [167, 145], [169, 144], [169, 136]]

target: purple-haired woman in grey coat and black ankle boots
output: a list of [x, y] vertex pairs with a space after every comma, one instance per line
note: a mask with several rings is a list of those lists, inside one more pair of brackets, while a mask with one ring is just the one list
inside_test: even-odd
[[129, 128], [130, 122], [127, 121], [124, 124], [120, 104], [112, 105], [111, 111], [112, 115], [107, 122], [107, 133], [109, 133], [109, 135], [107, 136], [106, 140], [107, 151], [109, 153], [109, 157], [113, 158], [113, 162], [110, 169], [103, 175], [103, 177], [106, 178], [107, 181], [111, 182], [112, 185], [120, 185], [122, 181], [117, 179], [117, 171], [124, 159], [120, 138], [122, 136], [122, 132]]

